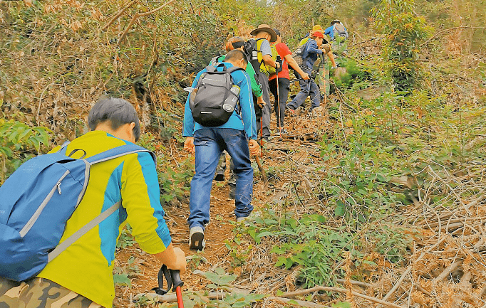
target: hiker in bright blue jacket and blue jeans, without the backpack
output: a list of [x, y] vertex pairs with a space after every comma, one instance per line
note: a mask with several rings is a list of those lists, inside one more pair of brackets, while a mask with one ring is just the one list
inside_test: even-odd
[[[229, 51], [224, 59], [226, 68], [247, 67], [246, 55], [237, 49]], [[217, 68], [222, 70], [221, 67]], [[257, 142], [257, 122], [253, 107], [252, 89], [249, 75], [243, 70], [231, 73], [233, 83], [239, 86], [239, 102], [229, 120], [217, 127], [204, 127], [195, 122], [190, 109], [190, 97], [187, 97], [184, 112], [184, 131], [186, 137], [184, 149], [195, 154], [195, 176], [191, 181], [189, 210], [187, 218], [190, 228], [190, 249], [202, 250], [205, 247], [205, 225], [210, 222], [211, 186], [219, 156], [226, 149], [234, 161], [234, 174], [237, 176], [235, 209], [237, 221], [252, 213], [253, 168], [250, 161], [258, 155], [260, 147]], [[206, 69], [197, 73], [192, 83], [197, 83]], [[237, 112], [241, 110], [241, 112]]]

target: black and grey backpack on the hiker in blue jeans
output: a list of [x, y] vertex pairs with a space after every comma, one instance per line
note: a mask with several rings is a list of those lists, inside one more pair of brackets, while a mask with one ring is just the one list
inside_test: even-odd
[[223, 63], [207, 66], [190, 93], [190, 109], [195, 122], [205, 127], [228, 122], [239, 101], [239, 87], [234, 85], [231, 75], [237, 70], [243, 69], [238, 66], [227, 68]]

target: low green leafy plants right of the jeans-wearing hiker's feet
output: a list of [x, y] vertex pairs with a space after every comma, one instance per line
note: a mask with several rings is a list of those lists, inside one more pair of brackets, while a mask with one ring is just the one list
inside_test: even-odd
[[[256, 218], [257, 225], [240, 230], [255, 240], [257, 245], [263, 238], [272, 238], [271, 253], [276, 255], [275, 266], [289, 269], [301, 265], [301, 283], [304, 287], [323, 285], [333, 279], [334, 265], [345, 252], [350, 251], [358, 265], [367, 253], [382, 253], [386, 260], [399, 262], [408, 254], [410, 238], [400, 235], [400, 228], [378, 228], [369, 225], [366, 230], [354, 233], [345, 226], [335, 228], [326, 225], [328, 218], [319, 214], [307, 214], [298, 220], [291, 213], [281, 216], [269, 210], [264, 218]], [[359, 235], [359, 236], [358, 236]], [[343, 275], [341, 269], [336, 272]]]

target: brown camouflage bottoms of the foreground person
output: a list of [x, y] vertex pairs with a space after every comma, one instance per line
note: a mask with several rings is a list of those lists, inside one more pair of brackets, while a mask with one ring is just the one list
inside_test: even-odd
[[100, 308], [99, 304], [45, 278], [12, 282], [0, 277], [0, 308]]

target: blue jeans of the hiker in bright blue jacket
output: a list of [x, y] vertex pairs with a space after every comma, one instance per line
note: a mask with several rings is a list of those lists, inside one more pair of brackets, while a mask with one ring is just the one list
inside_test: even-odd
[[244, 131], [231, 128], [205, 128], [195, 132], [196, 174], [191, 181], [189, 228], [203, 229], [210, 222], [210, 198], [214, 171], [224, 149], [234, 161], [236, 191], [234, 214], [247, 217], [253, 211], [253, 168]]

